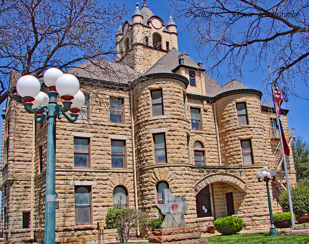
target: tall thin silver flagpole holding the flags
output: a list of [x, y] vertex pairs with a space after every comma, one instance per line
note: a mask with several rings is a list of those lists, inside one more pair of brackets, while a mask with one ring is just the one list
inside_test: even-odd
[[[271, 75], [271, 72], [270, 72], [270, 65], [268, 65], [268, 69], [269, 69], [269, 74], [270, 74], [270, 78], [271, 78], [271, 89], [272, 89], [272, 96], [273, 96], [273, 94], [274, 94], [274, 82], [273, 82], [273, 76]], [[284, 171], [285, 171], [285, 174], [286, 174], [286, 188], [287, 188], [288, 196], [289, 196], [289, 205], [290, 205], [290, 213], [291, 213], [291, 220], [292, 220], [292, 228], [297, 229], [296, 226], [295, 226], [290, 183], [289, 183], [289, 177], [288, 177], [288, 170], [287, 170], [287, 167], [286, 167], [286, 156], [284, 154], [284, 147], [283, 147], [283, 140], [282, 140], [282, 133], [281, 133], [282, 131], [281, 131], [281, 126], [280, 126], [280, 122], [279, 122], [279, 120], [281, 121], [281, 118], [279, 117], [279, 114], [278, 114], [279, 110], [278, 110], [278, 106], [277, 106], [276, 101], [274, 101], [274, 96], [273, 96], [273, 103], [275, 105], [276, 118], [277, 118], [277, 122], [278, 122], [277, 124], [278, 124], [278, 129], [279, 129], [279, 137], [280, 137], [280, 143], [281, 143], [281, 149], [282, 149], [282, 159], [283, 159], [283, 164], [284, 164]]]

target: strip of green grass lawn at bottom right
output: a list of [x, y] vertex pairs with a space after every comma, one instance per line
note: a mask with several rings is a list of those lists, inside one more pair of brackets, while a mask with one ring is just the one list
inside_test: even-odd
[[309, 235], [268, 236], [269, 233], [208, 237], [208, 244], [308, 244]]

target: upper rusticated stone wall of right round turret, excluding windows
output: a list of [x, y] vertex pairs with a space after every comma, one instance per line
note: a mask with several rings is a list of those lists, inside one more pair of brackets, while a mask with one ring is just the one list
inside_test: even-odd
[[[238, 125], [236, 103], [246, 102], [248, 125]], [[254, 94], [235, 94], [216, 101], [222, 165], [243, 165], [240, 140], [250, 139], [254, 164], [269, 162], [271, 148], [266, 143], [265, 121], [260, 99]], [[266, 149], [266, 150], [265, 150]]]

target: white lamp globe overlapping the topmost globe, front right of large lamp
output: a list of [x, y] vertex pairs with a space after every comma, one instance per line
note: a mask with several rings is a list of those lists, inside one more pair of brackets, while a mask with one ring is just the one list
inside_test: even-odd
[[59, 96], [75, 96], [79, 90], [78, 79], [71, 74], [61, 75], [56, 81], [56, 90], [59, 93]]

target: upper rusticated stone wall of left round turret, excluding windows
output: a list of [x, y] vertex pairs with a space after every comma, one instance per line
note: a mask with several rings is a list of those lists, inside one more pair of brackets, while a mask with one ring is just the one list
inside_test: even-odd
[[[162, 89], [163, 116], [152, 114], [151, 89]], [[167, 162], [188, 163], [189, 121], [184, 115], [185, 84], [176, 79], [152, 79], [134, 91], [134, 127], [137, 167], [155, 164], [153, 133], [165, 132]], [[161, 131], [160, 131], [161, 129]], [[151, 131], [159, 130], [159, 131]]]

